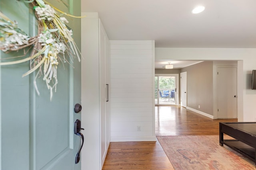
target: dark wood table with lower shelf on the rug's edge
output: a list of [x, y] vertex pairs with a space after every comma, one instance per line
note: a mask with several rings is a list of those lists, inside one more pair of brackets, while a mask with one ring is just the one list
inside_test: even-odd
[[[223, 134], [234, 139], [224, 139]], [[223, 144], [256, 163], [256, 122], [220, 122], [220, 146]]]

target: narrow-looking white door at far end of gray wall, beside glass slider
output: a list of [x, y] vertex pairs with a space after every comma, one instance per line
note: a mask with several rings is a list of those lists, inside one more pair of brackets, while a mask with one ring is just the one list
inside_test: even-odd
[[180, 73], [180, 106], [187, 108], [187, 72]]

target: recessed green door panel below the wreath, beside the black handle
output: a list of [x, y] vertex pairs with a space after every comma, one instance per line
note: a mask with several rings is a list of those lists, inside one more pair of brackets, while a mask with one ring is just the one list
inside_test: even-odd
[[[67, 154], [68, 149], [70, 149], [69, 138], [70, 135], [73, 137], [73, 133], [70, 134], [69, 132], [69, 127], [72, 126], [69, 125], [69, 65], [66, 64], [65, 67], [65, 70], [58, 68], [57, 91], [53, 94], [52, 102], [49, 100], [49, 92], [45, 82], [42, 79], [37, 81], [40, 96], [35, 95], [36, 109], [33, 113], [36, 129], [33, 134], [35, 136], [33, 142], [35, 146], [33, 147], [36, 151], [36, 169], [41, 169], [48, 162], [53, 161], [50, 164], [55, 164], [55, 161]], [[33, 85], [30, 86], [30, 89], [34, 90]], [[72, 152], [69, 154], [73, 155]], [[56, 155], [58, 156], [56, 157]], [[72, 165], [72, 160], [66, 165], [67, 168], [72, 169], [70, 165]]]

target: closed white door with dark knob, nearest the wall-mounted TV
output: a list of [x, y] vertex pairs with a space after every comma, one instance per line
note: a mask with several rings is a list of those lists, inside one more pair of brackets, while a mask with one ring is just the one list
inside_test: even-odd
[[236, 67], [218, 67], [218, 118], [237, 118]]

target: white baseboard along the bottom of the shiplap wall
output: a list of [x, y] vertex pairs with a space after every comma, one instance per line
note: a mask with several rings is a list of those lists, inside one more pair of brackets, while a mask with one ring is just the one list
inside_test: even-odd
[[152, 137], [111, 137], [111, 142], [142, 142], [156, 141], [156, 136]]

